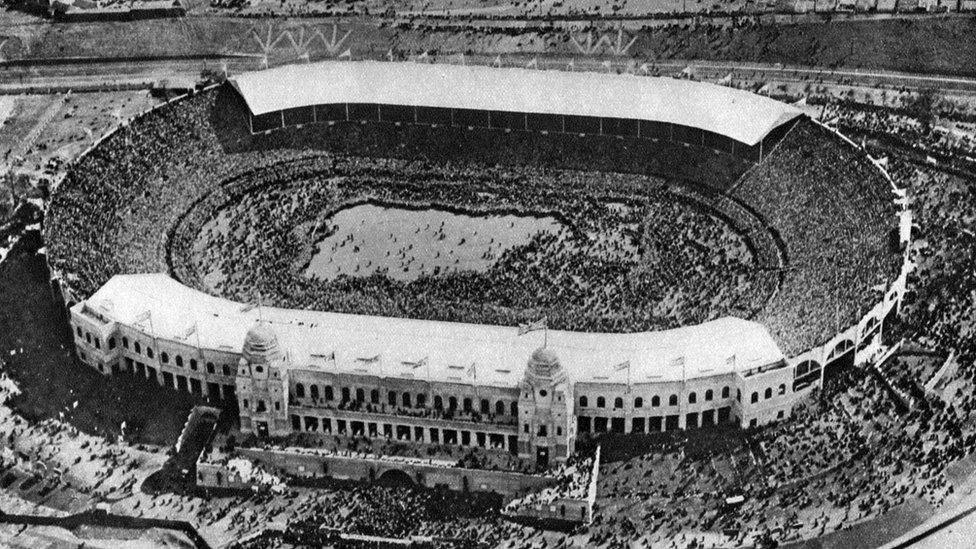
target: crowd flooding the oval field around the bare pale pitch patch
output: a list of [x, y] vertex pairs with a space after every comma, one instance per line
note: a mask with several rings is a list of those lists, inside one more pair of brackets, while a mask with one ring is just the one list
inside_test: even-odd
[[[235, 184], [240, 191], [225, 190], [232, 205], [220, 212], [220, 231], [194, 221], [216, 217], [205, 204], [227, 204], [223, 193], [184, 220], [179, 236], [199, 235], [198, 253], [185, 269], [176, 267], [193, 280], [216, 265], [221, 282], [204, 289], [242, 301], [260, 295], [296, 308], [509, 325], [545, 311], [555, 328], [631, 331], [749, 316], [775, 280], [753, 268], [746, 243], [725, 224], [669, 200], [661, 182], [644, 177], [323, 156]], [[431, 271], [414, 281], [305, 276], [321, 237], [296, 227], [327, 223], [336, 209], [363, 200], [475, 215], [514, 209], [555, 215], [572, 230], [538, 233], [501, 252], [484, 272]], [[389, 238], [403, 236], [394, 230]], [[418, 252], [405, 254], [404, 266], [418, 261]]]

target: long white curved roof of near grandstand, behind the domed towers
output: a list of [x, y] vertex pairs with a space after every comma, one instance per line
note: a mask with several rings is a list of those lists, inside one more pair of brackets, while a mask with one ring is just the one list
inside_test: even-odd
[[[529, 357], [546, 337], [542, 331], [519, 336], [508, 326], [249, 307], [165, 274], [116, 275], [75, 310], [86, 304], [156, 339], [234, 353], [261, 320], [298, 368], [425, 379], [428, 368], [413, 365], [426, 359], [435, 381], [471, 383], [474, 364], [478, 384], [502, 387], [522, 380]], [[784, 358], [765, 327], [732, 317], [634, 334], [549, 330], [548, 348], [576, 382], [624, 383], [627, 372], [615, 366], [627, 361], [636, 384], [748, 370]], [[335, 361], [326, 358], [332, 353]]]

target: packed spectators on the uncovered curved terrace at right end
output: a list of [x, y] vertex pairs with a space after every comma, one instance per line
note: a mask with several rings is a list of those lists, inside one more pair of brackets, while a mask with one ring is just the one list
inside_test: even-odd
[[813, 123], [797, 124], [731, 192], [785, 242], [783, 283], [758, 320], [788, 355], [857, 323], [898, 274], [891, 184], [862, 152]]

